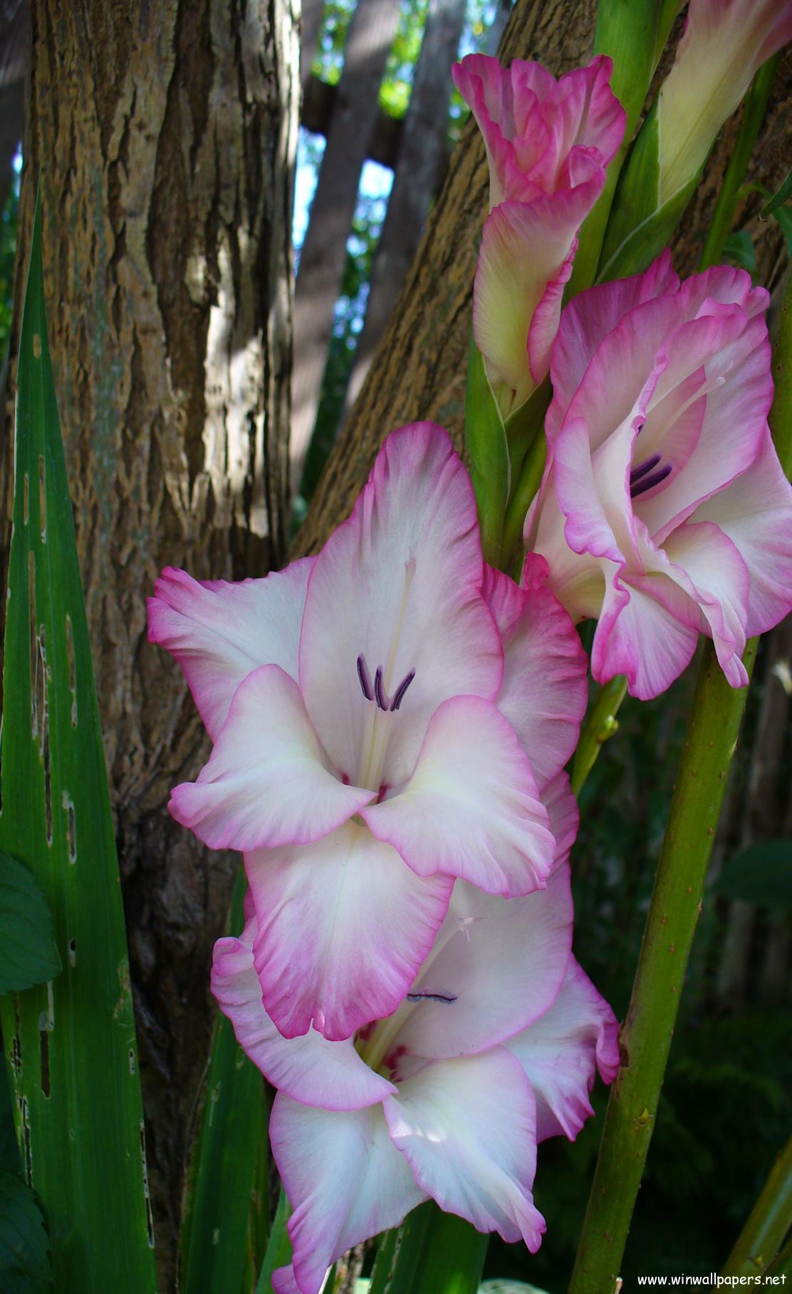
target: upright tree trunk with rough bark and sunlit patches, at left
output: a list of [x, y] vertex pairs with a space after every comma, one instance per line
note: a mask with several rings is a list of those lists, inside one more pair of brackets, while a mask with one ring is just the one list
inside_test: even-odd
[[[208, 743], [146, 642], [160, 567], [283, 555], [290, 0], [34, 0], [17, 265], [41, 170], [50, 349], [118, 823], [162, 1288], [206, 1064], [208, 965], [236, 855], [167, 814]], [[3, 497], [10, 489], [10, 454]]]

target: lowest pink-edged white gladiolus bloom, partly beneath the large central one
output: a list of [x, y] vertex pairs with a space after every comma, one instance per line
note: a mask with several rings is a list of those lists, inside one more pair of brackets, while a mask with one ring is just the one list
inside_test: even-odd
[[[554, 797], [575, 815], [563, 784]], [[591, 1114], [595, 1070], [611, 1082], [619, 1065], [616, 1021], [571, 939], [566, 862], [527, 898], [457, 881], [395, 1014], [346, 1042], [313, 1030], [285, 1039], [261, 1003], [248, 903], [242, 936], [215, 946], [212, 990], [278, 1087], [269, 1132], [294, 1207], [294, 1259], [273, 1276], [278, 1294], [317, 1294], [333, 1262], [427, 1198], [538, 1249], [537, 1141], [575, 1139]]]

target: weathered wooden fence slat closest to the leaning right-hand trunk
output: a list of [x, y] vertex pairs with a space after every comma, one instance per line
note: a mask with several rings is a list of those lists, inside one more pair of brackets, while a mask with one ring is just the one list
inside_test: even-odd
[[459, 48], [465, 8], [465, 0], [428, 3], [393, 188], [371, 268], [366, 318], [355, 352], [343, 418], [364, 384], [377, 343], [412, 265], [432, 197], [437, 192], [448, 162], [450, 70]]

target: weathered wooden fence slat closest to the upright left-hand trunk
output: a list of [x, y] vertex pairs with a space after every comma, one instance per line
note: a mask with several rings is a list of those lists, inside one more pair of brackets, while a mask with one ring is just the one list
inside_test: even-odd
[[294, 311], [291, 487], [299, 488], [316, 421], [340, 295], [347, 237], [362, 164], [377, 119], [379, 85], [396, 35], [399, 0], [358, 0], [327, 135], [311, 220], [300, 252]]

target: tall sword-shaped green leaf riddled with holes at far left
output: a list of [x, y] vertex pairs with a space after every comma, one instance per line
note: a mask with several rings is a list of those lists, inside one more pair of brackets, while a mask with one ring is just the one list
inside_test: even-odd
[[[115, 836], [44, 317], [36, 208], [17, 375], [0, 850], [25, 859], [63, 959], [0, 998], [17, 1141], [56, 1289], [155, 1289]], [[107, 1242], [109, 1220], [113, 1244]]]

